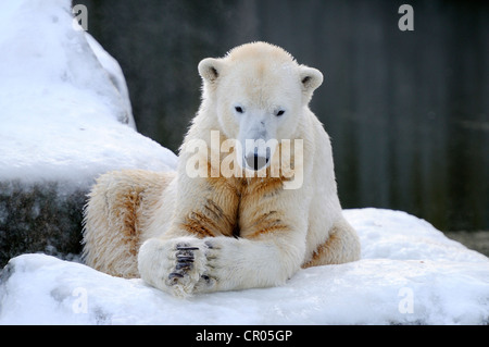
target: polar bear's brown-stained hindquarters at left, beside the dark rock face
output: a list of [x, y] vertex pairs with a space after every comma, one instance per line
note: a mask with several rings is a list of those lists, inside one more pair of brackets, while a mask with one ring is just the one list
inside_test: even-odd
[[137, 253], [145, 240], [146, 211], [158, 207], [173, 177], [173, 173], [141, 170], [101, 175], [84, 211], [85, 263], [111, 275], [138, 277]]

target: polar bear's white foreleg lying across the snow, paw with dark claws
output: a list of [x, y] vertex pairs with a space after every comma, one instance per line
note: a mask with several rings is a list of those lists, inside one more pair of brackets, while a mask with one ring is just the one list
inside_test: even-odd
[[[300, 237], [304, 237], [299, 234]], [[139, 249], [141, 278], [174, 296], [269, 287], [300, 269], [299, 238], [250, 240], [226, 236], [150, 238]]]

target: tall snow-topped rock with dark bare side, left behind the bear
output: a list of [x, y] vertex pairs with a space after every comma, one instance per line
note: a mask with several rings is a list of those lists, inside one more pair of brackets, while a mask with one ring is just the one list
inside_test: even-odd
[[117, 62], [74, 25], [70, 0], [0, 1], [0, 265], [79, 250], [95, 178], [174, 169], [138, 134]]

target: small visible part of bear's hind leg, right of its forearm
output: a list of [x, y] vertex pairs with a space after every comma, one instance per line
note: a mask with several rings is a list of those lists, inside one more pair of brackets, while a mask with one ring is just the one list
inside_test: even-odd
[[344, 219], [337, 221], [328, 235], [326, 241], [317, 246], [311, 260], [302, 268], [341, 264], [360, 259], [359, 236]]

